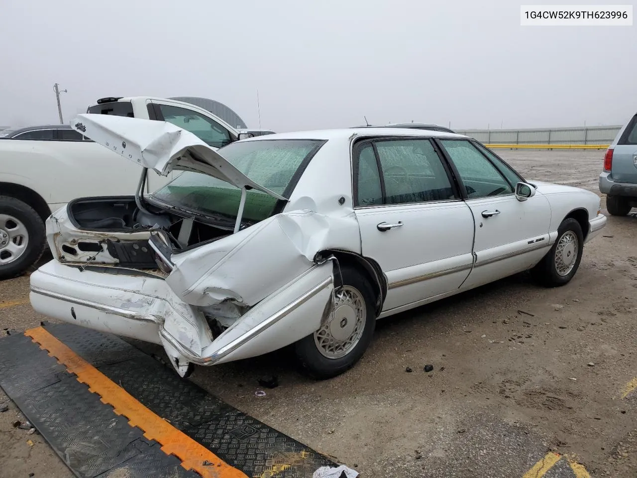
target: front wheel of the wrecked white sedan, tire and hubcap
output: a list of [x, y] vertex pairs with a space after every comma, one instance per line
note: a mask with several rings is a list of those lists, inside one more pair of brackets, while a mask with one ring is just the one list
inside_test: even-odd
[[533, 275], [544, 286], [558, 287], [573, 279], [582, 261], [584, 238], [582, 227], [567, 218], [557, 229], [557, 240], [547, 255], [533, 268]]

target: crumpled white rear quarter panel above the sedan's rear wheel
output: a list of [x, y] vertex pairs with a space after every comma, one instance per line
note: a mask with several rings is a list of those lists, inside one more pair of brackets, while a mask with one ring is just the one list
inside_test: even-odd
[[[309, 210], [269, 217], [236, 234], [173, 254], [166, 283], [181, 300], [200, 307], [234, 300], [255, 305], [309, 270], [317, 252], [361, 253], [354, 215], [331, 217]], [[243, 271], [250, 270], [250, 275]], [[320, 312], [319, 312], [320, 313]]]

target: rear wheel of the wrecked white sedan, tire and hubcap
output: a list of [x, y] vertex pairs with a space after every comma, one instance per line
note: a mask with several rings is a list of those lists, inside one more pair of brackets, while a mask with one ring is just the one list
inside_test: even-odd
[[343, 286], [335, 293], [326, 324], [296, 344], [304, 370], [317, 379], [336, 377], [364, 354], [374, 335], [376, 314], [369, 281], [355, 268], [342, 266]]

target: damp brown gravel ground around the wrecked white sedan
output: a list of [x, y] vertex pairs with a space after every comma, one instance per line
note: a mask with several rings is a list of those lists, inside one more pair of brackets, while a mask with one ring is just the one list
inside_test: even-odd
[[[603, 151], [499, 154], [529, 179], [599, 194]], [[192, 380], [363, 477], [522, 477], [549, 451], [564, 457], [547, 477], [585, 477], [569, 460], [591, 477], [634, 477], [637, 391], [621, 395], [637, 376], [636, 235], [634, 215], [609, 217], [565, 287], [520, 274], [383, 319], [360, 363], [332, 380], [307, 379], [286, 351]], [[22, 303], [27, 291], [27, 277], [0, 283], [1, 328], [43, 319]], [[280, 386], [255, 396], [271, 374]], [[20, 414], [9, 407], [0, 477], [71, 477], [41, 437], [11, 427]]]

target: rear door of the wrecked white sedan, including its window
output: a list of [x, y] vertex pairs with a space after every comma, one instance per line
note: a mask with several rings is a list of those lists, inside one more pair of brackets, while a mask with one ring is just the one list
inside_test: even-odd
[[354, 148], [362, 254], [380, 264], [388, 315], [454, 291], [473, 264], [473, 217], [427, 138], [383, 138]]

